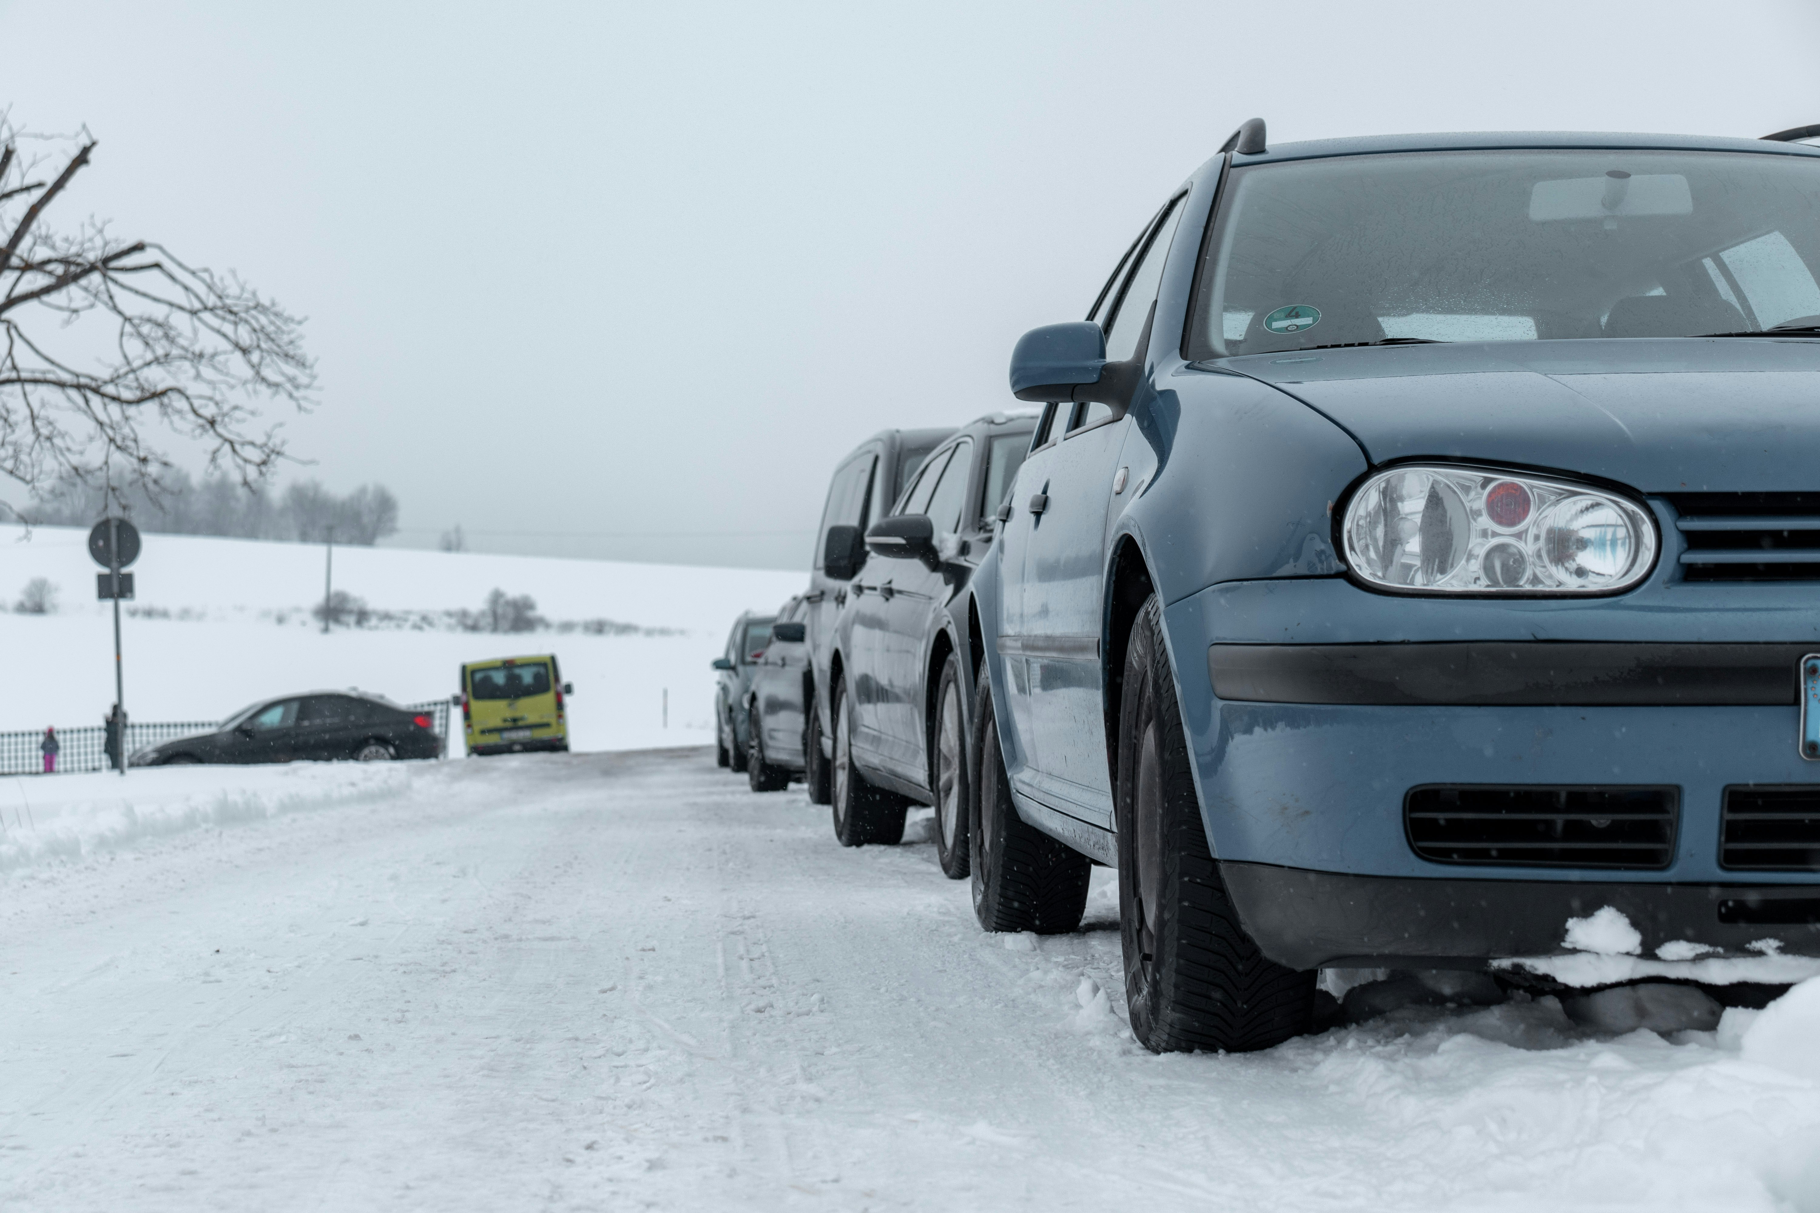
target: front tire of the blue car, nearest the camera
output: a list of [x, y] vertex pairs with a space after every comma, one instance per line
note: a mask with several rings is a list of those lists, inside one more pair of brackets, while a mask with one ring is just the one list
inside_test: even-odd
[[1269, 1049], [1314, 1024], [1316, 973], [1269, 960], [1207, 846], [1176, 678], [1152, 595], [1119, 707], [1119, 937], [1132, 1035], [1154, 1053]]

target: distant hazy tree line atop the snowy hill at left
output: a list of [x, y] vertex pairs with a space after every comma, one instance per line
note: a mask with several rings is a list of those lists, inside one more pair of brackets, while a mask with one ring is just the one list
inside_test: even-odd
[[[142, 531], [160, 535], [320, 544], [333, 533], [337, 544], [371, 547], [399, 529], [399, 498], [379, 484], [337, 496], [317, 480], [300, 480], [277, 493], [218, 475], [191, 480], [173, 469], [157, 491], [144, 484], [116, 484], [111, 496]], [[91, 526], [106, 516], [107, 498], [106, 486], [64, 476], [33, 495], [20, 513], [38, 526]]]

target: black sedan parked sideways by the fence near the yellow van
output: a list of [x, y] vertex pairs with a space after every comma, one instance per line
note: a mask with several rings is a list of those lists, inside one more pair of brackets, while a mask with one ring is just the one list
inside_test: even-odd
[[430, 713], [360, 691], [311, 691], [253, 704], [213, 733], [138, 749], [131, 764], [437, 758], [442, 746]]

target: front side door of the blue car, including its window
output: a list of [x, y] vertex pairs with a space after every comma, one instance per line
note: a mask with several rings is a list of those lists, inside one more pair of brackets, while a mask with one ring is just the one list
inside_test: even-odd
[[[1139, 242], [1110, 298], [1107, 358], [1138, 356], [1179, 206], [1167, 206]], [[1028, 793], [1056, 809], [1112, 827], [1107, 762], [1105, 631], [1107, 516], [1130, 418], [1107, 404], [1074, 404], [1056, 422], [1061, 440], [1034, 451], [1019, 484], [1032, 486], [1023, 551], [1019, 649], [1028, 667], [1028, 720], [1037, 751]], [[1003, 649], [1003, 642], [1001, 642]]]

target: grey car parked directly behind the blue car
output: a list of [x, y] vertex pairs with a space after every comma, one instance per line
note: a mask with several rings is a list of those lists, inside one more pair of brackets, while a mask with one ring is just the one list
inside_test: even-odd
[[[1030, 447], [1036, 413], [994, 413], [957, 429], [872, 524], [872, 558], [846, 586], [834, 631], [834, 833], [895, 842], [906, 804], [935, 806], [935, 849], [966, 875], [966, 727], [979, 667], [966, 587]], [[824, 573], [834, 576], [839, 529]]]

